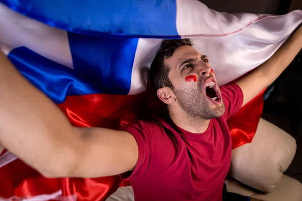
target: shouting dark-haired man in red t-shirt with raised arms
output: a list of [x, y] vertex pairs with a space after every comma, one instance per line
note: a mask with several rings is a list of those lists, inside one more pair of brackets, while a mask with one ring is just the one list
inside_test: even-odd
[[118, 131], [71, 126], [1, 54], [0, 142], [47, 177], [129, 177], [135, 200], [226, 200], [232, 152], [226, 119], [301, 47], [300, 27], [268, 61], [219, 89], [209, 58], [190, 40], [165, 40], [149, 75], [169, 115]]

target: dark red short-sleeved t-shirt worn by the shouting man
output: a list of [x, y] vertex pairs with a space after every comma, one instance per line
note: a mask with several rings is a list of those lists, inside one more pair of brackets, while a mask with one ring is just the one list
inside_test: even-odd
[[207, 130], [193, 134], [170, 118], [139, 121], [122, 128], [138, 145], [138, 161], [129, 177], [136, 201], [222, 200], [231, 164], [232, 142], [226, 120], [242, 106], [236, 84], [220, 87], [225, 113], [212, 119]]

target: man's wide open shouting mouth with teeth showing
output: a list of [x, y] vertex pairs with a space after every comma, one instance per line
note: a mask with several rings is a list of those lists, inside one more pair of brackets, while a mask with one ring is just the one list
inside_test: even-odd
[[205, 80], [205, 94], [213, 104], [220, 104], [222, 102], [221, 94], [212, 77]]

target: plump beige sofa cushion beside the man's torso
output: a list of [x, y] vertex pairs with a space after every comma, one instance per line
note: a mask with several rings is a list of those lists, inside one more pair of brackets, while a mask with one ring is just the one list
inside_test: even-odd
[[260, 119], [253, 141], [233, 150], [229, 174], [248, 186], [271, 192], [291, 163], [295, 151], [293, 137]]

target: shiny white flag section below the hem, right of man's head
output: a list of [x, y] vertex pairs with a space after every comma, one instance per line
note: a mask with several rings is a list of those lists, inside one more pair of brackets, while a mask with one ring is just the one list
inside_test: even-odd
[[218, 84], [224, 85], [269, 59], [300, 23], [301, 11], [268, 16], [236, 35], [194, 38], [193, 46], [209, 57]]

